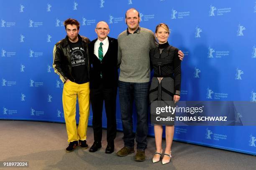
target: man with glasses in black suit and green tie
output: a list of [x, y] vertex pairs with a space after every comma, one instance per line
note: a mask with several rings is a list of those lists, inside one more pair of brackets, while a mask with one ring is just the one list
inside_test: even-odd
[[104, 21], [97, 23], [97, 38], [89, 44], [90, 54], [90, 100], [92, 104], [92, 127], [94, 143], [90, 152], [101, 148], [102, 108], [105, 103], [107, 115], [107, 141], [105, 153], [113, 153], [116, 136], [116, 94], [118, 86], [118, 41], [108, 37], [110, 29]]

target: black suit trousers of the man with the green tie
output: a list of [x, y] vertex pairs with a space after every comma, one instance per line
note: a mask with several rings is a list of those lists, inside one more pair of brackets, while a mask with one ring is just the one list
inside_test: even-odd
[[92, 104], [92, 128], [94, 141], [102, 140], [102, 109], [105, 102], [107, 115], [107, 141], [111, 143], [116, 137], [116, 94], [117, 87], [105, 88], [101, 83], [96, 89], [90, 89], [90, 100]]

